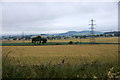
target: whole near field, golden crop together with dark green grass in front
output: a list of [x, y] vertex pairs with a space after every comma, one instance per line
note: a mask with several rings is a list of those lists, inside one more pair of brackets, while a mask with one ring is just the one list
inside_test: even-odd
[[117, 44], [2, 46], [3, 78], [120, 78]]

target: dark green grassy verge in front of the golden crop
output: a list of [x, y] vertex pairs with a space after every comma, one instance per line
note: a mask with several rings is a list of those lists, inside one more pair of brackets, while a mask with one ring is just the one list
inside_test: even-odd
[[[3, 64], [3, 78], [109, 78], [108, 73], [120, 77], [120, 68], [114, 63], [81, 63], [69, 65], [61, 61], [61, 64], [46, 65], [11, 65]], [[113, 68], [113, 70], [111, 70]], [[110, 74], [110, 77], [113, 74]]]

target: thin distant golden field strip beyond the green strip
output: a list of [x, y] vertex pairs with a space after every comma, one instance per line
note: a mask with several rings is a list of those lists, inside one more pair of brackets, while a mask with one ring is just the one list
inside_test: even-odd
[[[90, 42], [89, 38], [86, 39], [61, 39], [61, 40], [48, 40], [48, 42]], [[30, 42], [31, 40], [3, 40], [3, 43], [19, 43], [19, 42]], [[98, 37], [96, 38], [98, 43], [118, 43], [118, 37]]]

